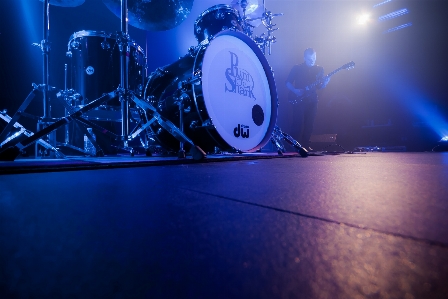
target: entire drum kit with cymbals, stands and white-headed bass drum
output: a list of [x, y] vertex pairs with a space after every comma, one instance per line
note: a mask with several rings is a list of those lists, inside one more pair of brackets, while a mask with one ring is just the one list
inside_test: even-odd
[[[7, 123], [0, 134], [0, 160], [14, 160], [32, 144], [36, 144], [36, 155], [44, 152], [64, 158], [62, 147], [91, 155], [70, 143], [71, 123], [95, 147], [95, 156], [104, 152], [92, 128], [118, 141], [115, 147], [131, 155], [137, 152], [130, 146], [134, 140], [148, 156], [161, 148], [179, 158], [189, 151], [195, 160], [207, 154], [260, 151], [269, 141], [283, 154], [281, 141], [285, 140], [302, 157], [307, 156], [297, 141], [276, 126], [277, 91], [265, 53], [268, 49], [271, 54], [272, 33], [278, 29], [272, 19], [282, 14], [268, 11], [264, 0], [262, 5], [258, 0], [233, 0], [206, 9], [194, 22], [198, 45], [148, 77], [145, 53], [130, 38], [128, 24], [150, 31], [174, 28], [187, 18], [193, 0], [103, 0], [120, 18], [121, 31], [83, 30], [70, 36], [67, 56], [74, 86], [67, 88], [65, 65], [65, 88], [57, 92], [57, 100], [66, 113], [60, 118], [52, 118], [48, 99], [50, 91], [56, 90], [48, 84], [50, 5], [75, 7], [84, 0], [40, 1], [44, 6], [44, 39], [39, 44], [43, 84], [33, 84], [33, 91], [12, 117], [6, 111], [0, 113]], [[259, 24], [267, 34], [253, 34]], [[33, 133], [18, 120], [37, 92], [43, 95], [44, 115]], [[101, 121], [121, 123], [121, 134], [106, 129]], [[64, 126], [65, 142], [58, 143], [55, 130]]]

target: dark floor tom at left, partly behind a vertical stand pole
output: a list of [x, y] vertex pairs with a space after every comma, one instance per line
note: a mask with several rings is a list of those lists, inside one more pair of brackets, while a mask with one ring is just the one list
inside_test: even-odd
[[[129, 42], [128, 89], [141, 95], [146, 58], [143, 49]], [[83, 30], [68, 42], [72, 88], [83, 96], [83, 105], [111, 92], [121, 83], [118, 38], [103, 31]]]

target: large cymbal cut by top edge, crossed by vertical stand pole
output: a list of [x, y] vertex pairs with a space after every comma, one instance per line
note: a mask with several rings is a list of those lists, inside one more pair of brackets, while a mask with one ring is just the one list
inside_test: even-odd
[[[121, 0], [103, 0], [121, 18]], [[190, 14], [193, 0], [128, 0], [128, 24], [148, 31], [164, 31], [182, 23]]]

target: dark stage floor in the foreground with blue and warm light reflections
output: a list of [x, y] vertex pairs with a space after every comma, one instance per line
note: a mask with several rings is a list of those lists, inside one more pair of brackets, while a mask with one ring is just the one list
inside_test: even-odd
[[1, 298], [448, 298], [448, 153], [2, 163]]

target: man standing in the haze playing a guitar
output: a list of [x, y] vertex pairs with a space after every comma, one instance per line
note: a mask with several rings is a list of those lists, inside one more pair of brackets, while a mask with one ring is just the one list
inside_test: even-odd
[[[286, 80], [286, 87], [290, 90], [289, 101], [296, 103], [293, 118], [293, 130], [297, 141], [307, 150], [309, 140], [313, 132], [314, 119], [317, 113], [317, 89], [325, 88], [330, 81], [330, 77], [324, 78], [324, 68], [316, 65], [316, 51], [308, 48], [303, 53], [303, 63], [292, 67]], [[323, 79], [314, 88], [307, 86]]]

